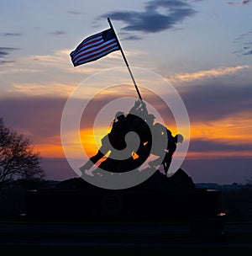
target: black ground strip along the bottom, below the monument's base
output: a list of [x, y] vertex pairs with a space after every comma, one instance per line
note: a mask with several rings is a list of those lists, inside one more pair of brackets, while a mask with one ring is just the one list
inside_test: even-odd
[[226, 223], [222, 234], [186, 223], [0, 223], [1, 255], [251, 255], [252, 222]]

